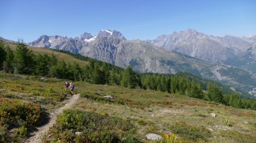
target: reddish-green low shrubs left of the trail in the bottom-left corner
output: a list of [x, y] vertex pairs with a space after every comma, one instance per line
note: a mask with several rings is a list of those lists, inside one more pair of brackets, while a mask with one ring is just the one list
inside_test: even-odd
[[[35, 103], [23, 102], [20, 99], [0, 98], [1, 142], [9, 140], [18, 142], [20, 138], [27, 137], [27, 128], [38, 123], [41, 115], [42, 109]], [[12, 135], [7, 135], [7, 129], [12, 128], [18, 129], [14, 129]]]

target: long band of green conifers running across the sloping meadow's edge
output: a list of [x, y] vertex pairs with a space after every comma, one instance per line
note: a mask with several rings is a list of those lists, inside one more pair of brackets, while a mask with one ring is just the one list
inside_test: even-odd
[[[65, 51], [62, 52], [65, 53]], [[5, 72], [157, 90], [222, 103], [236, 108], [256, 110], [254, 99], [241, 98], [236, 93], [224, 94], [216, 83], [209, 82], [208, 85], [203, 85], [180, 74], [137, 73], [130, 66], [122, 69], [79, 54], [72, 56], [89, 61], [89, 64], [80, 67], [77, 63], [71, 64], [58, 60], [54, 54], [51, 56], [34, 54], [22, 41], [16, 45], [14, 51], [0, 42], [0, 65]]]

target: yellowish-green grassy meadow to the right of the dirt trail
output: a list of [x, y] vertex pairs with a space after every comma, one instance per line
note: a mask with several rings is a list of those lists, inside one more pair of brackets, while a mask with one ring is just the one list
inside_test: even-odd
[[[256, 140], [256, 113], [253, 110], [235, 109], [214, 102], [151, 90], [82, 82], [76, 85], [79, 86], [78, 90], [87, 94], [76, 104], [77, 109], [129, 119], [137, 128], [136, 135], [142, 141], [146, 141], [144, 137], [147, 133], [162, 135], [163, 132], [175, 133], [183, 141], [190, 142], [233, 142], [242, 140], [243, 136], [247, 137], [247, 142]], [[94, 98], [101, 94], [113, 95], [114, 99], [102, 102]], [[122, 101], [123, 104], [117, 101]], [[217, 114], [215, 118], [210, 116], [212, 112]], [[226, 127], [226, 120], [233, 127]], [[225, 132], [236, 133], [236, 136], [225, 135]]]

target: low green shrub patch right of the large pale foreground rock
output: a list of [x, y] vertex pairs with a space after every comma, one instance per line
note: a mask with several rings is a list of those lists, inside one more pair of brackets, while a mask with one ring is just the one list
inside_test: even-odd
[[193, 141], [207, 141], [211, 136], [210, 131], [207, 128], [203, 126], [197, 127], [195, 125], [188, 125], [185, 122], [176, 122], [174, 125], [171, 125], [171, 131], [182, 138]]

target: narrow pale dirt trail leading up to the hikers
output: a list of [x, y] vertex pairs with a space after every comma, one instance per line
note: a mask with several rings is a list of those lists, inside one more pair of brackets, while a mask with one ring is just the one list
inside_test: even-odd
[[47, 124], [43, 125], [42, 127], [39, 127], [38, 131], [35, 133], [32, 133], [33, 136], [28, 138], [25, 142], [27, 142], [27, 143], [42, 142], [43, 135], [56, 122], [57, 115], [61, 114], [61, 112], [64, 109], [67, 109], [67, 108], [71, 107], [72, 105], [74, 105], [76, 103], [77, 99], [79, 99], [79, 97], [80, 97], [80, 94], [73, 95], [71, 97], [71, 99], [69, 99], [69, 101], [64, 106], [60, 107], [59, 109], [56, 109], [53, 113], [51, 113], [51, 119], [49, 119], [49, 122]]

